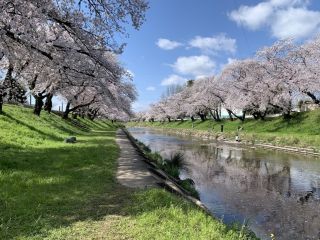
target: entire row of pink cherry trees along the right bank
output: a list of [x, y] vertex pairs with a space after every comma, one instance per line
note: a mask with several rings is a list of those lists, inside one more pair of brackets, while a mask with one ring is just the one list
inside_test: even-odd
[[237, 60], [217, 77], [189, 81], [184, 89], [137, 114], [139, 120], [171, 121], [207, 116], [219, 121], [221, 109], [230, 119], [250, 114], [264, 119], [281, 113], [290, 118], [298, 100], [319, 105], [320, 37], [303, 45], [291, 40], [265, 47], [251, 59]]

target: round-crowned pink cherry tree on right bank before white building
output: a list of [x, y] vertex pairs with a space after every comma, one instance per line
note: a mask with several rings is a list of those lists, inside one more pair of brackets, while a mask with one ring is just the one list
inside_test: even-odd
[[[221, 89], [220, 100], [231, 119], [236, 117], [243, 121], [246, 113], [265, 117], [270, 109], [266, 76], [261, 63], [254, 59], [235, 61], [226, 66], [216, 86]], [[236, 114], [239, 110], [242, 116]]]

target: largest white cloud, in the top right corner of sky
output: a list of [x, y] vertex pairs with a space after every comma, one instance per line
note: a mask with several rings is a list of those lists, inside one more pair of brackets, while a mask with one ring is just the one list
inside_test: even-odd
[[309, 10], [308, 4], [309, 0], [268, 0], [241, 5], [229, 18], [250, 30], [267, 27], [279, 39], [307, 38], [320, 31], [320, 12]]

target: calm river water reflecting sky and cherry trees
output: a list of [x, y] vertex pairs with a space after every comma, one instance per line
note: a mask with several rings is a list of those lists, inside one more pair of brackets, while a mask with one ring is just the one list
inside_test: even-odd
[[200, 200], [223, 222], [248, 221], [262, 239], [320, 239], [319, 158], [128, 130], [165, 158], [183, 153], [181, 178], [193, 179]]

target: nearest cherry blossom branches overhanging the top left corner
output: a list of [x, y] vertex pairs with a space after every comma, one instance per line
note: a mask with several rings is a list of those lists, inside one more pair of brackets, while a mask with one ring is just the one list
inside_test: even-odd
[[[126, 34], [129, 21], [138, 29], [147, 8], [144, 0], [4, 0], [0, 3], [2, 47], [10, 40], [53, 61], [56, 52], [74, 51], [107, 67], [101, 56], [106, 51], [121, 52], [123, 47], [115, 35]], [[66, 38], [76, 47], [61, 44]]]

